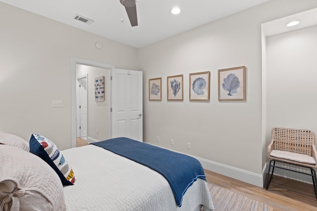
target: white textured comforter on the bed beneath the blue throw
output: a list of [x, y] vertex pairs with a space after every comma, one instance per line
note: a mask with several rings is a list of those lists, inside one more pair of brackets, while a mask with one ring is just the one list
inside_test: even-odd
[[62, 151], [75, 174], [64, 187], [67, 211], [194, 211], [213, 210], [207, 182], [198, 179], [176, 205], [168, 182], [158, 172], [88, 145]]

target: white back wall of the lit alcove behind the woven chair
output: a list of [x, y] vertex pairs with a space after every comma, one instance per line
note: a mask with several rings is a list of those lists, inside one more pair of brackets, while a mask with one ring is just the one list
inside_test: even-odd
[[267, 144], [272, 127], [317, 132], [317, 26], [266, 38]]

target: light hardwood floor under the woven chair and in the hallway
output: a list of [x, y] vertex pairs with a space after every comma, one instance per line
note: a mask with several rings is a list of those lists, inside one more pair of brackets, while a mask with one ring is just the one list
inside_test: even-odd
[[[88, 145], [77, 138], [76, 146]], [[208, 182], [263, 202], [273, 211], [317, 211], [313, 185], [273, 176], [268, 190], [205, 169]]]

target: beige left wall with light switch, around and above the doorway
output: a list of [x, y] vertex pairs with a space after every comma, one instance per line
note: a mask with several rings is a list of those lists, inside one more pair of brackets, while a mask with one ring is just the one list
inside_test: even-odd
[[[70, 148], [71, 57], [138, 70], [138, 49], [0, 2], [0, 131]], [[102, 49], [95, 47], [103, 44]], [[120, 56], [118, 56], [120, 55]], [[125, 58], [124, 60], [122, 58]], [[62, 108], [52, 108], [62, 100]]]

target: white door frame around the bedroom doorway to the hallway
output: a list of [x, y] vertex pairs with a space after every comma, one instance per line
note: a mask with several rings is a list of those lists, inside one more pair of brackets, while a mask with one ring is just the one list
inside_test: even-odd
[[[114, 65], [96, 62], [92, 60], [82, 59], [78, 57], [71, 57], [71, 80], [70, 80], [70, 147], [76, 147], [77, 121], [76, 121], [76, 64], [99, 67], [109, 69], [112, 73]], [[111, 88], [111, 86], [110, 86]], [[111, 92], [110, 92], [111, 93]], [[109, 120], [111, 121], [111, 120]], [[111, 124], [110, 124], [111, 127]], [[111, 129], [110, 129], [111, 131]]]

